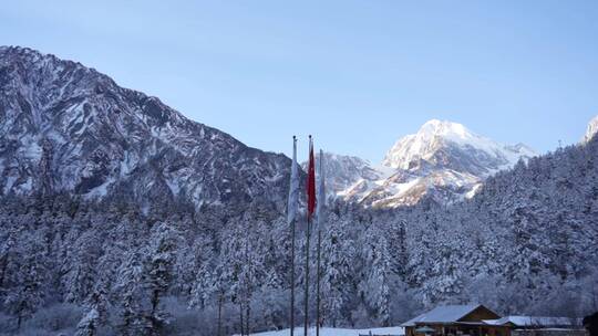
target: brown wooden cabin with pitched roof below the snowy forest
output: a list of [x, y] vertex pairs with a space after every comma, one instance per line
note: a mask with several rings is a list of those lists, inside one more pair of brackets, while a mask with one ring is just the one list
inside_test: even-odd
[[480, 304], [447, 305], [415, 316], [401, 326], [405, 328], [405, 336], [511, 336], [511, 326], [485, 323], [499, 318]]

